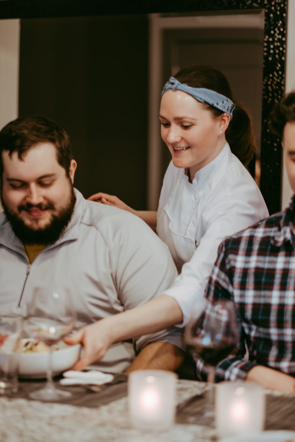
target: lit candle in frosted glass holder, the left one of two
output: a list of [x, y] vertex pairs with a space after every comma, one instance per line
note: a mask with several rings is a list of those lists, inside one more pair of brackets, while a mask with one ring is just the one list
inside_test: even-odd
[[175, 415], [176, 374], [138, 370], [128, 375], [129, 416], [133, 427], [164, 430]]

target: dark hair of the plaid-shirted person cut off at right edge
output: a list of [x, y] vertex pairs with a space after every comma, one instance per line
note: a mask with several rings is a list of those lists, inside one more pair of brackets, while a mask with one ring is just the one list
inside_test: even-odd
[[282, 139], [284, 127], [291, 122], [295, 122], [295, 90], [275, 104], [269, 115], [269, 129]]

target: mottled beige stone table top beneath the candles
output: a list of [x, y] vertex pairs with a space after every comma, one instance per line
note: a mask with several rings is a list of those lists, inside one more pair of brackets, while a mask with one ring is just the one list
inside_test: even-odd
[[[177, 403], [208, 388], [203, 382], [179, 380]], [[287, 404], [291, 412], [294, 410], [294, 406], [291, 407], [293, 404], [295, 404], [295, 395], [291, 397], [291, 403]], [[275, 409], [277, 408], [276, 405]], [[293, 428], [283, 426], [278, 429]], [[161, 433], [138, 431], [129, 423], [127, 397], [98, 408], [0, 397], [1, 442], [213, 442], [217, 440], [214, 427], [177, 421], [169, 431]]]

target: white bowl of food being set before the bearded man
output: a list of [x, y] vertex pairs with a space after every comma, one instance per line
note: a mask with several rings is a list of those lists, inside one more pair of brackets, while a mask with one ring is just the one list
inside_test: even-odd
[[[23, 339], [27, 341], [28, 339]], [[63, 341], [57, 343], [58, 350], [52, 351], [52, 375], [69, 370], [79, 359], [81, 345], [67, 345]], [[19, 377], [34, 379], [46, 377], [48, 367], [48, 351], [42, 353], [21, 353], [19, 362]]]

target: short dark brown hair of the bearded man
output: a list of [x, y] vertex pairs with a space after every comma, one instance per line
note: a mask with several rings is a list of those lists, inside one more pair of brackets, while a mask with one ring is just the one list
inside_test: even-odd
[[69, 135], [57, 122], [43, 115], [29, 115], [16, 118], [0, 131], [0, 177], [3, 175], [2, 152], [9, 155], [18, 152], [19, 159], [27, 150], [39, 143], [52, 143], [57, 151], [57, 161], [69, 177], [73, 154]]

